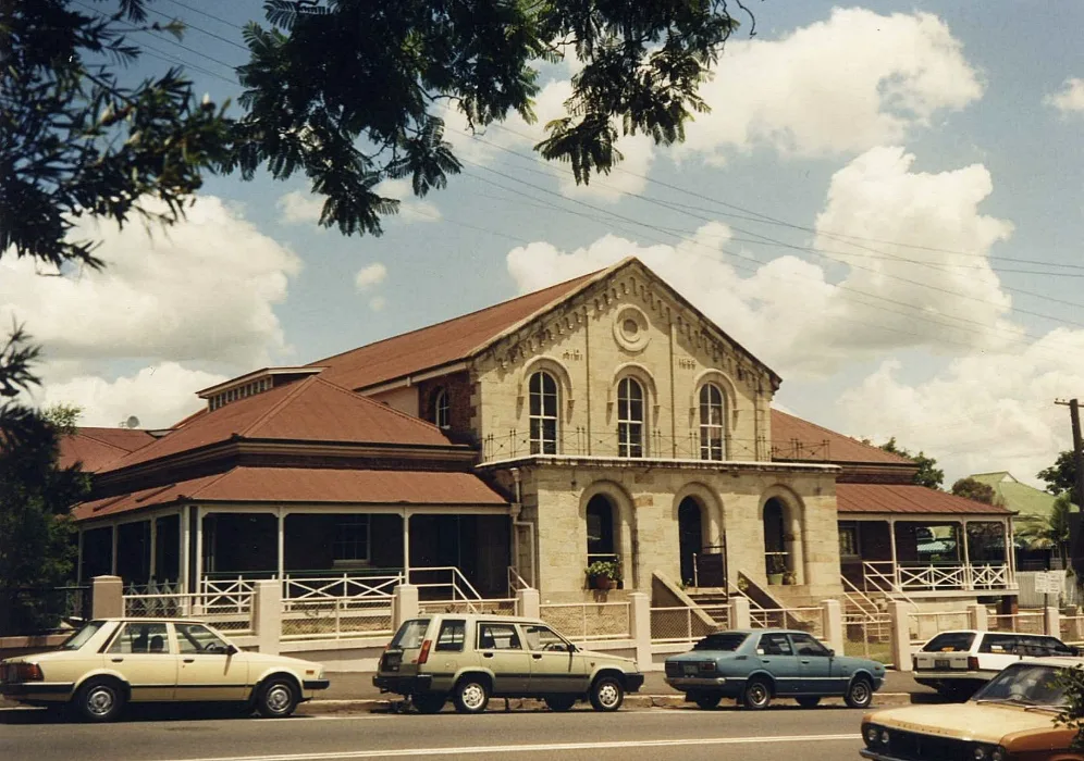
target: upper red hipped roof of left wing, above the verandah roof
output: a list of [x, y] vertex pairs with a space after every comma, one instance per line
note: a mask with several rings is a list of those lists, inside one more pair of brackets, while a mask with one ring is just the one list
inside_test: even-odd
[[148, 447], [113, 462], [115, 471], [233, 437], [449, 446], [431, 423], [393, 410], [321, 376], [297, 380], [230, 402], [188, 422]]

